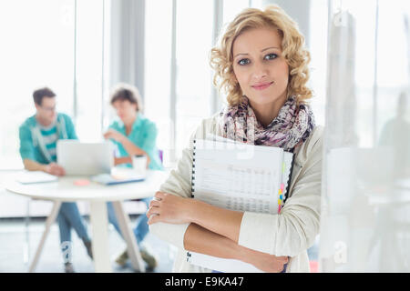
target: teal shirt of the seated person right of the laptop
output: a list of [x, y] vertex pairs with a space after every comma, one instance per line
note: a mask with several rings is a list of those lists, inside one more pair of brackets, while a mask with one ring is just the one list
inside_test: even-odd
[[[156, 146], [158, 130], [155, 123], [150, 121], [144, 115], [138, 113], [137, 118], [132, 125], [129, 135], [126, 134], [126, 128], [121, 120], [114, 121], [109, 128], [117, 130], [120, 134], [127, 138], [135, 145], [149, 155], [149, 169], [162, 170], [163, 166], [159, 159], [159, 150]], [[118, 157], [129, 156], [124, 146], [115, 140], [111, 141], [118, 147]], [[131, 164], [126, 164], [128, 167]]]

